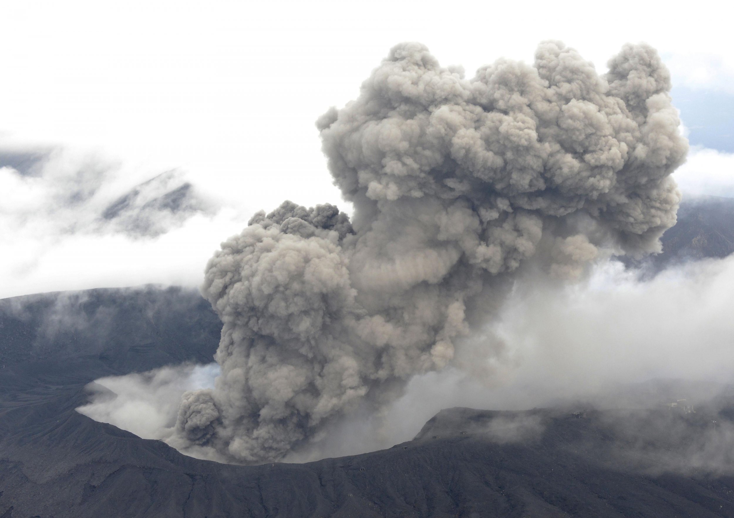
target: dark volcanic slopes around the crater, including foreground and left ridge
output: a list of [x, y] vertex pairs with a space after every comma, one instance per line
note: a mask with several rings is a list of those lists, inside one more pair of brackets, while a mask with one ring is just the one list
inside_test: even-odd
[[413, 441], [360, 456], [192, 459], [74, 408], [99, 376], [208, 361], [219, 322], [206, 303], [155, 289], [55, 300], [0, 301], [3, 518], [734, 517], [734, 478], [691, 460], [705, 459], [701, 437], [731, 429], [727, 409], [451, 409]]

